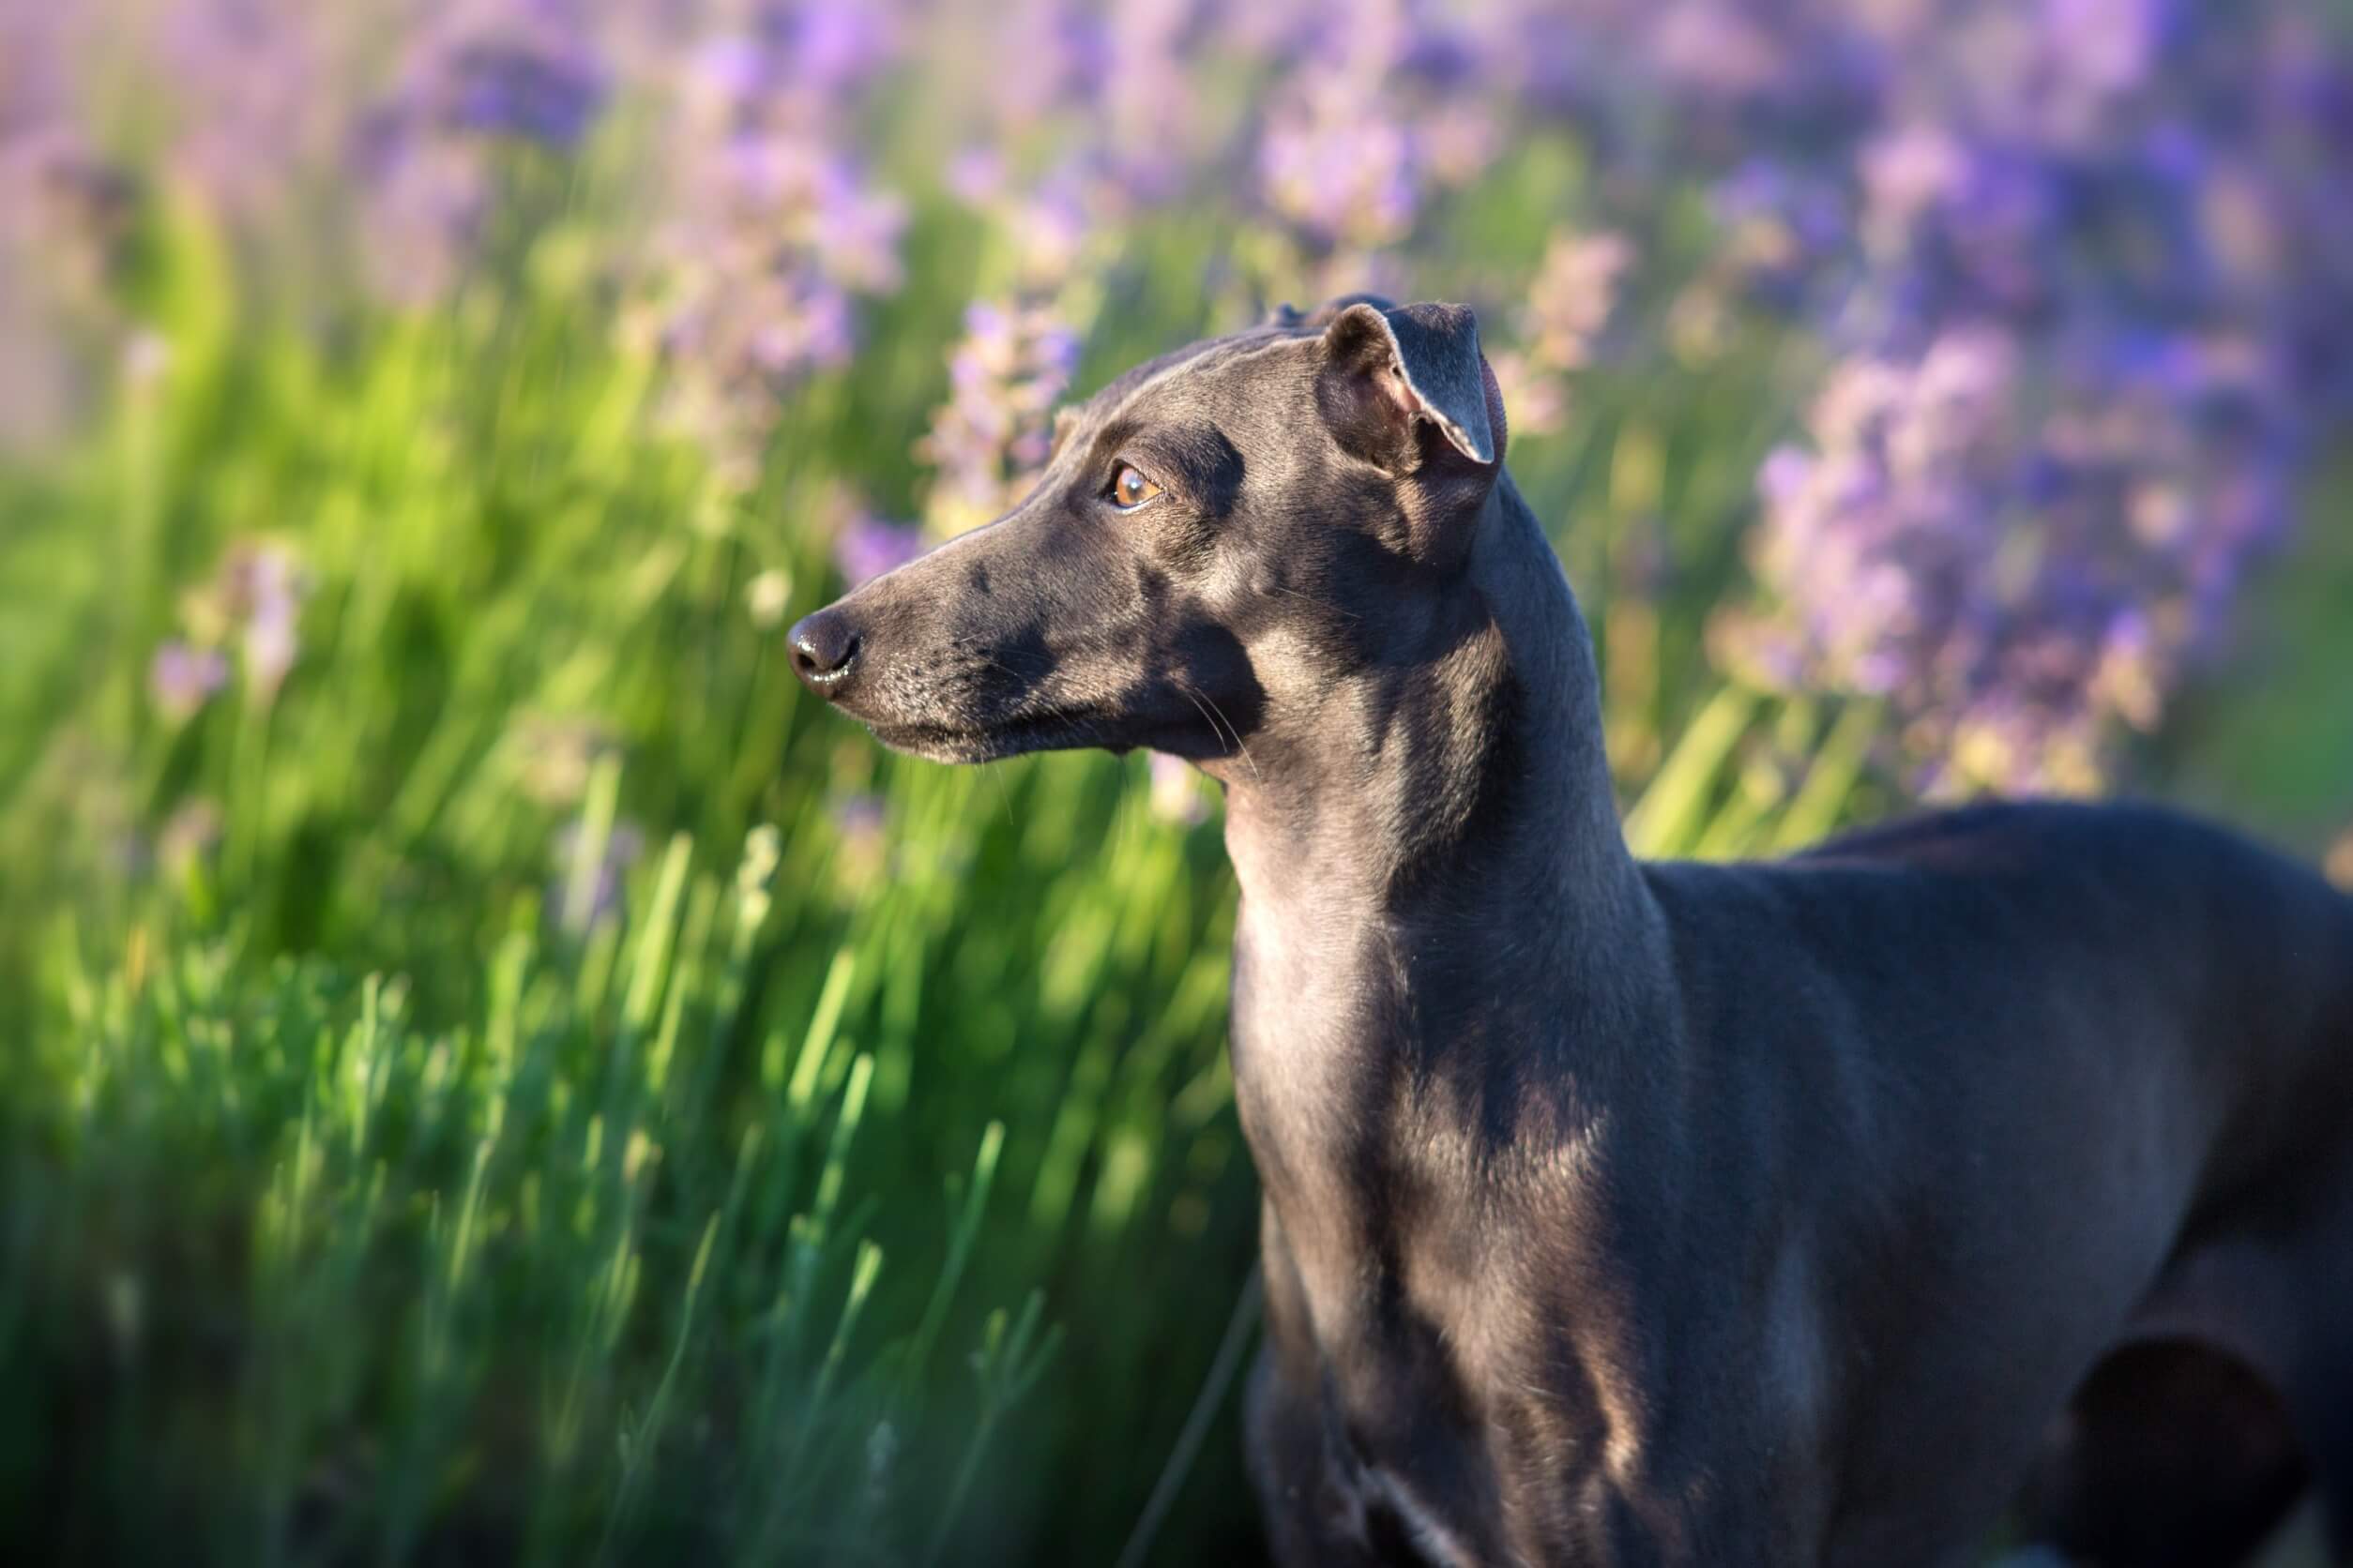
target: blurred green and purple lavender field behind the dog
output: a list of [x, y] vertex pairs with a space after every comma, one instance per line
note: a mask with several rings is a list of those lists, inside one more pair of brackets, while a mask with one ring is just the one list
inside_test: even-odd
[[1367, 287], [1642, 851], [2353, 882], [2346, 5], [0, 0], [21, 1561], [1249, 1561], [1214, 792], [781, 628]]

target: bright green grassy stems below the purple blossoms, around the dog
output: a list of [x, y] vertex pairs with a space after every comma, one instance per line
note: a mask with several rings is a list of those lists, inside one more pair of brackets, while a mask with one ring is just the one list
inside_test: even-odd
[[[1525, 214], [1579, 202], [1525, 150], [1428, 292], [1508, 296]], [[1268, 280], [1205, 292], [1217, 242], [1144, 226], [1085, 383], [1235, 320]], [[0, 1533], [49, 1561], [1108, 1561], [1202, 1396], [1257, 1225], [1214, 823], [1155, 818], [1141, 759], [885, 757], [751, 607], [835, 590], [835, 487], [913, 510], [1002, 259], [925, 209], [859, 367], [727, 496], [586, 244], [320, 339], [169, 216], [162, 383], [0, 468]], [[1755, 327], [1513, 444], [1649, 851], [1894, 799], [1871, 710], [1699, 651], [1802, 374]], [[308, 574], [301, 656], [172, 722], [148, 658], [254, 536]], [[2202, 755], [2148, 780], [2261, 769]], [[2353, 757], [2294, 766], [2311, 835]], [[1202, 1408], [1155, 1561], [1254, 1549]]]

